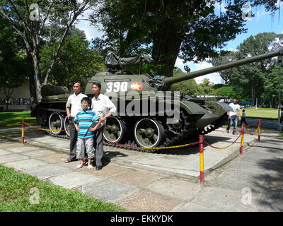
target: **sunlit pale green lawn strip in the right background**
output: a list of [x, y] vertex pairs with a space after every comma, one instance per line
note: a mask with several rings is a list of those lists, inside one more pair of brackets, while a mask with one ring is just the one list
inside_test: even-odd
[[278, 119], [278, 109], [275, 108], [247, 108], [246, 117], [256, 119]]

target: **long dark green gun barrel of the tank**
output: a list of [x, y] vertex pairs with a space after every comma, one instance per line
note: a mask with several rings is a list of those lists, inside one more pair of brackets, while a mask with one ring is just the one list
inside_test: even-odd
[[277, 50], [277, 51], [274, 51], [274, 52], [269, 52], [267, 54], [261, 54], [261, 55], [255, 56], [255, 57], [249, 57], [247, 59], [240, 59], [238, 61], [229, 62], [229, 63], [222, 64], [222, 65], [219, 65], [219, 66], [213, 66], [213, 67], [210, 67], [208, 69], [202, 69], [202, 70], [199, 70], [199, 71], [193, 71], [193, 72], [190, 72], [190, 73], [185, 73], [185, 74], [180, 75], [180, 76], [167, 77], [167, 78], [164, 78], [163, 82], [164, 82], [165, 85], [171, 85], [173, 83], [178, 83], [178, 82], [185, 81], [185, 80], [188, 80], [188, 79], [197, 78], [197, 77], [200, 77], [200, 76], [207, 75], [209, 73], [214, 73], [216, 71], [223, 71], [223, 70], [226, 70], [226, 69], [231, 69], [231, 68], [236, 67], [236, 66], [241, 66], [243, 64], [249, 64], [249, 63], [253, 63], [255, 61], [260, 61], [262, 59], [277, 57], [277, 56], [280, 56], [280, 55], [283, 55], [283, 49], [280, 49], [280, 50]]

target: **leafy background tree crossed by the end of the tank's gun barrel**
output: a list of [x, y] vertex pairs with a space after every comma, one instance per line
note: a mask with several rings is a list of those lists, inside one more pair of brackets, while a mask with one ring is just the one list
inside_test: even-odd
[[[243, 43], [239, 44], [236, 52], [228, 52], [218, 59], [212, 59], [210, 62], [217, 66], [228, 61], [245, 59], [259, 54], [265, 54], [270, 50], [277, 50], [283, 47], [283, 35], [274, 32], [263, 32], [258, 35], [251, 35]], [[220, 71], [220, 76], [225, 79], [229, 85], [236, 86], [241, 96], [252, 100], [255, 105], [255, 98], [262, 97], [261, 104], [266, 98], [266, 88], [270, 90], [270, 73], [276, 65], [275, 59], [265, 59], [264, 61], [253, 62], [237, 68]], [[273, 84], [274, 85], [274, 84]], [[268, 87], [269, 86], [269, 87]]]

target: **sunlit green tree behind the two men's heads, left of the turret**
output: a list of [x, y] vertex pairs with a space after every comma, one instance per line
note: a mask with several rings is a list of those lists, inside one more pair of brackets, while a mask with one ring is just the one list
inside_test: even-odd
[[[58, 41], [42, 46], [40, 52], [40, 64], [42, 73], [46, 73], [52, 52], [57, 47]], [[82, 30], [71, 28], [67, 35], [64, 46], [61, 49], [60, 57], [54, 64], [54, 69], [50, 73], [50, 84], [70, 85], [74, 81], [85, 83], [87, 78], [93, 76], [95, 71], [104, 69], [104, 59], [97, 52], [89, 48], [89, 42]]]

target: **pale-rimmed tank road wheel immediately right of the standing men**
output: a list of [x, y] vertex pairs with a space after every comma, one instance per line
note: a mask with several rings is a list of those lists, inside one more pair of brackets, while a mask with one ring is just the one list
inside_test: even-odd
[[121, 119], [116, 117], [110, 117], [107, 119], [104, 130], [103, 137], [106, 141], [121, 143], [127, 134], [127, 127]]

